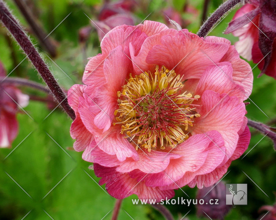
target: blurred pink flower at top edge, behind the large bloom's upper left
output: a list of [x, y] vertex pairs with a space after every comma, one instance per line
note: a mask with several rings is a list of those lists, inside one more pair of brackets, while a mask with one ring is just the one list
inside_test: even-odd
[[91, 22], [98, 32], [99, 40], [101, 41], [105, 34], [116, 26], [134, 25], [134, 17], [130, 11], [135, 5], [134, 0], [106, 3], [99, 14], [99, 21]]

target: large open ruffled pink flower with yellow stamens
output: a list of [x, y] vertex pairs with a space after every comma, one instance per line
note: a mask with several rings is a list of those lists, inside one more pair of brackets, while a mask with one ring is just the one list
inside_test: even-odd
[[247, 149], [252, 71], [228, 40], [144, 21], [114, 28], [101, 49], [68, 101], [74, 149], [111, 196], [211, 186]]

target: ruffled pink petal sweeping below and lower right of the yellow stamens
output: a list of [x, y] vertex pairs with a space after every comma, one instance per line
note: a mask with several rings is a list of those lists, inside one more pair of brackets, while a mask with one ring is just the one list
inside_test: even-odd
[[196, 175], [213, 171], [222, 162], [225, 154], [223, 144], [217, 131], [193, 135], [171, 150], [171, 153], [181, 157], [172, 158], [164, 171], [151, 174], [134, 170], [130, 176], [145, 181], [147, 186], [162, 186], [162, 189], [182, 187]]

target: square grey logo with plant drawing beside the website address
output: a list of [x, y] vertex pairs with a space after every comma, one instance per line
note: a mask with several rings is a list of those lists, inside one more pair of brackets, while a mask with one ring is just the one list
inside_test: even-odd
[[247, 205], [247, 184], [226, 184], [226, 205]]

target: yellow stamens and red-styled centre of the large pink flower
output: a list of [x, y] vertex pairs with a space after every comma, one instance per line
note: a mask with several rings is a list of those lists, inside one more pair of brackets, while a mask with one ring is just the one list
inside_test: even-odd
[[136, 144], [136, 150], [166, 146], [175, 147], [187, 140], [188, 127], [193, 126], [193, 118], [200, 114], [191, 108], [192, 102], [199, 95], [192, 97], [184, 86], [182, 77], [174, 70], [156, 66], [155, 73], [141, 73], [133, 78], [130, 74], [128, 83], [118, 91], [118, 105], [114, 115], [121, 125], [121, 134], [125, 133]]

